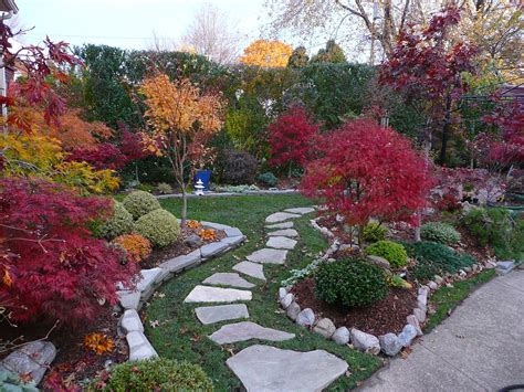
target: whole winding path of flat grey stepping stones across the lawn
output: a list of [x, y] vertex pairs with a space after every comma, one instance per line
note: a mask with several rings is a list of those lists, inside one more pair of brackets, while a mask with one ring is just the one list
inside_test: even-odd
[[[293, 229], [291, 220], [314, 211], [312, 208], [296, 208], [269, 215], [265, 219], [266, 247], [254, 251], [245, 261], [233, 265], [235, 273], [212, 274], [201, 285], [197, 285], [184, 301], [209, 304], [251, 300], [249, 289], [260, 284], [260, 280], [266, 280], [264, 266], [285, 264], [289, 251], [297, 244], [298, 232]], [[252, 278], [258, 283], [249, 280]], [[249, 319], [248, 307], [249, 304], [202, 306], [197, 307], [195, 312], [203, 325], [213, 325]], [[239, 321], [222, 325], [208, 338], [218, 345], [229, 345], [252, 339], [283, 341], [294, 339], [295, 335], [252, 321]], [[226, 363], [248, 391], [321, 391], [348, 369], [344, 360], [324, 350], [298, 352], [263, 345], [248, 347]]]

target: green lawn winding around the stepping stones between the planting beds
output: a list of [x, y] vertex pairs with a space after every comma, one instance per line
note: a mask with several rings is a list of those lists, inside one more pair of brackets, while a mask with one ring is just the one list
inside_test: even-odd
[[[180, 200], [163, 200], [161, 204], [177, 216], [180, 215]], [[241, 386], [240, 381], [226, 367], [226, 360], [258, 341], [228, 345], [223, 348], [213, 343], [207, 336], [227, 322], [200, 325], [193, 311], [196, 305], [184, 304], [184, 298], [208, 276], [216, 272], [231, 272], [231, 267], [237, 262], [244, 259], [244, 256], [254, 250], [261, 248], [265, 242], [264, 219], [270, 213], [310, 204], [310, 201], [301, 195], [249, 195], [189, 200], [188, 216], [190, 219], [237, 226], [248, 236], [248, 242], [222, 257], [209, 261], [172, 278], [158, 290], [165, 296], [157, 295], [151, 298], [150, 305], [145, 308], [146, 322], [144, 325], [146, 335], [161, 357], [200, 364], [213, 380], [217, 391], [235, 390]], [[375, 372], [381, 365], [381, 360], [348, 347], [337, 346], [319, 335], [296, 326], [281, 312], [275, 300], [279, 283], [289, 276], [287, 271], [291, 267], [304, 267], [312, 262], [314, 254], [324, 252], [327, 246], [322, 235], [308, 224], [310, 218], [305, 216], [295, 221], [301, 240], [296, 248], [290, 253], [287, 265], [264, 266], [268, 278], [265, 284], [250, 279], [259, 283], [259, 286], [252, 290], [253, 299], [248, 304], [250, 319], [262, 326], [296, 333], [295, 339], [272, 343], [272, 346], [298, 351], [324, 349], [346, 360], [349, 363], [349, 372], [333, 383], [332, 390], [347, 390], [355, 388], [359, 381]], [[151, 328], [148, 322], [151, 320], [158, 320], [160, 326]], [[260, 343], [266, 342], [260, 341]]]

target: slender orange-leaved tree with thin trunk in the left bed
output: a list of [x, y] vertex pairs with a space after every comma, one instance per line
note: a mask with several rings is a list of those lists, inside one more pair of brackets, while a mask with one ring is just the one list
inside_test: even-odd
[[191, 157], [205, 152], [210, 137], [222, 127], [222, 100], [218, 95], [202, 93], [187, 78], [171, 82], [161, 73], [144, 80], [139, 93], [145, 97], [150, 137], [158, 140], [159, 150], [168, 158], [182, 192], [184, 224], [187, 215], [186, 170], [191, 167]]

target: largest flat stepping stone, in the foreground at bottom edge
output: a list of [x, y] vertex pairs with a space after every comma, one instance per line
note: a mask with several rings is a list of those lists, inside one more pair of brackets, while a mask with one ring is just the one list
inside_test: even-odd
[[298, 352], [255, 345], [226, 363], [248, 391], [322, 391], [348, 365], [324, 350]]

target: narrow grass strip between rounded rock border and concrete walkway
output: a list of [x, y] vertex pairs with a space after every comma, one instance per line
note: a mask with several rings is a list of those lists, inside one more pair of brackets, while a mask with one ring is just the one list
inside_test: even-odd
[[472, 290], [490, 282], [495, 276], [495, 269], [484, 269], [476, 276], [453, 283], [453, 287], [442, 286], [430, 297], [431, 304], [436, 306], [436, 312], [428, 318], [423, 328], [425, 333], [429, 333], [437, 327], [449, 314], [459, 306]]

